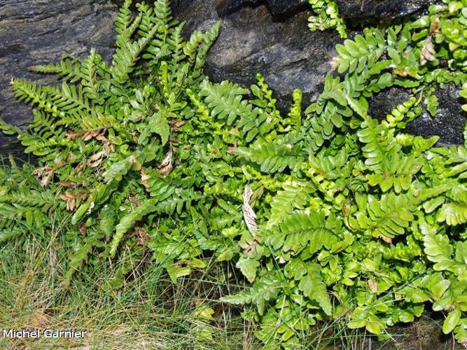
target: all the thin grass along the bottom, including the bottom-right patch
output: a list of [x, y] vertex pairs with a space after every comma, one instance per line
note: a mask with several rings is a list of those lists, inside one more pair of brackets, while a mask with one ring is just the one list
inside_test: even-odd
[[[70, 244], [63, 235], [68, 218], [53, 218], [48, 237], [20, 237], [0, 247], [0, 328], [86, 330], [85, 337], [9, 339], [1, 349], [262, 349], [254, 323], [242, 309], [218, 302], [235, 293], [244, 279], [232, 265], [214, 264], [173, 283], [151, 263], [134, 264], [125, 284], [109, 288], [118, 271], [110, 262], [77, 272], [69, 290], [62, 286]], [[211, 308], [212, 318], [202, 310]], [[200, 315], [204, 315], [200, 316]], [[342, 320], [321, 323], [302, 335], [300, 349], [452, 349], [440, 338], [440, 321], [424, 316], [407, 327], [394, 328], [378, 342], [364, 332], [342, 327]], [[274, 348], [272, 348], [274, 349]]]

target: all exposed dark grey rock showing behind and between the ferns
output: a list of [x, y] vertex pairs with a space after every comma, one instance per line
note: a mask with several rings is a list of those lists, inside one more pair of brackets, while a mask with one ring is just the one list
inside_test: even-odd
[[[28, 66], [57, 62], [63, 52], [82, 57], [92, 46], [110, 59], [113, 20], [119, 1], [0, 2], [0, 113], [9, 123], [22, 125], [32, 116], [28, 106], [15, 102], [11, 96], [8, 89], [11, 77], [32, 78], [41, 83], [57, 81], [27, 71]], [[412, 13], [427, 3], [342, 0], [341, 10], [349, 18], [366, 15], [389, 18]], [[263, 73], [284, 110], [295, 87], [303, 90], [305, 105], [321, 93], [335, 55], [334, 47], [342, 41], [332, 30], [314, 33], [308, 30], [307, 18], [311, 13], [306, 0], [172, 0], [172, 8], [176, 18], [187, 22], [186, 36], [194, 29], [206, 30], [218, 20], [223, 21], [221, 35], [207, 57], [205, 71], [213, 80], [229, 79], [249, 86], [254, 83], [255, 73]], [[442, 144], [461, 143], [465, 113], [461, 112], [455, 88], [449, 89], [440, 92], [439, 116], [431, 118], [426, 114], [412, 123], [408, 131], [426, 136], [438, 134]], [[371, 113], [385, 116], [403, 100], [400, 90], [382, 92], [373, 100]], [[20, 156], [22, 148], [12, 138], [0, 134], [0, 154], [9, 152]]]

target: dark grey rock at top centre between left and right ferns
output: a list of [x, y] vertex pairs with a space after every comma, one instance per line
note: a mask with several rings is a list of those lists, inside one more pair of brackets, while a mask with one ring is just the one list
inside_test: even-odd
[[[220, 19], [216, 0], [179, 0], [172, 5], [179, 20], [187, 22], [186, 34]], [[335, 31], [310, 32], [308, 17], [309, 11], [299, 11], [277, 18], [267, 4], [240, 8], [222, 18], [221, 35], [209, 52], [205, 72], [216, 81], [228, 79], [245, 86], [254, 83], [256, 73], [263, 73], [283, 108], [295, 87], [309, 102], [321, 92], [334, 46], [341, 39]]]

